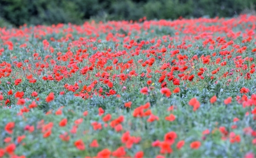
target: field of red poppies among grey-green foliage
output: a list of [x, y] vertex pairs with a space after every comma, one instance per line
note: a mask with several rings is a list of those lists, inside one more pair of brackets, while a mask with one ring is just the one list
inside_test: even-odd
[[0, 28], [0, 157], [254, 157], [256, 16]]

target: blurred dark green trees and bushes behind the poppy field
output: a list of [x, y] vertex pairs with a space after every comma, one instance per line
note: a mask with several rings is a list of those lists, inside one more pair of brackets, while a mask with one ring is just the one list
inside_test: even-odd
[[230, 17], [255, 14], [256, 0], [0, 0], [0, 27], [85, 20]]

